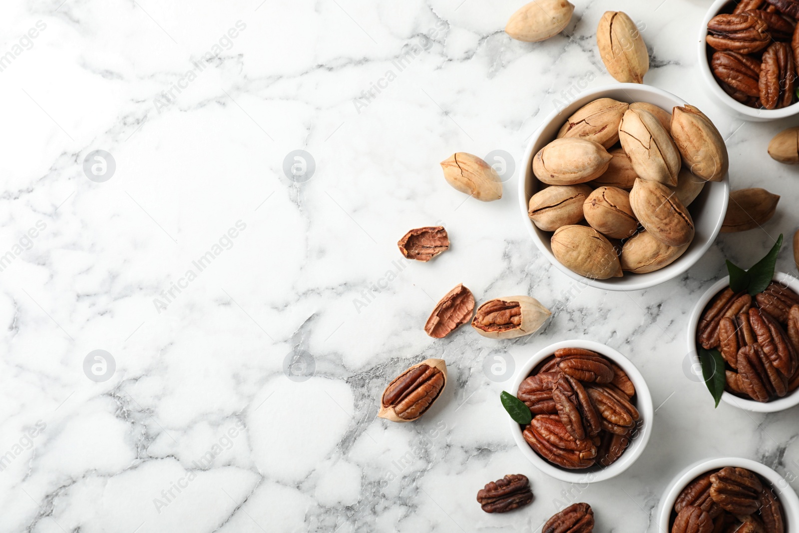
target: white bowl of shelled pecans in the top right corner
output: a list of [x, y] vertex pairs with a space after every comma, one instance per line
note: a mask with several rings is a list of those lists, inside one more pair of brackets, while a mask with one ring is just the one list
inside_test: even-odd
[[717, 0], [702, 22], [699, 66], [710, 92], [738, 117], [799, 113], [797, 0]]

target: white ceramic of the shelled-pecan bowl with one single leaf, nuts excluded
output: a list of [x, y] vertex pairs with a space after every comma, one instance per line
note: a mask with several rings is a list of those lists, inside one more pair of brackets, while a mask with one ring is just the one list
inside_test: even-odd
[[584, 348], [592, 352], [597, 352], [599, 355], [605, 356], [608, 360], [613, 361], [627, 373], [627, 376], [630, 376], [630, 381], [635, 385], [635, 407], [641, 414], [641, 420], [643, 422], [642, 424], [639, 423], [638, 435], [633, 437], [630, 446], [627, 447], [624, 453], [622, 453], [622, 456], [609, 467], [602, 467], [596, 464], [593, 467], [582, 468], [581, 470], [562, 468], [550, 463], [547, 459], [543, 459], [541, 455], [537, 454], [533, 448], [530, 447], [530, 444], [527, 444], [527, 440], [524, 440], [521, 426], [512, 419], [509, 419], [513, 440], [515, 440], [519, 450], [522, 451], [522, 455], [530, 459], [530, 462], [540, 471], [543, 471], [544, 474], [550, 475], [555, 479], [560, 479], [567, 483], [596, 483], [613, 478], [632, 466], [636, 459], [641, 456], [644, 448], [646, 448], [646, 444], [649, 442], [652, 432], [652, 423], [654, 421], [654, 408], [652, 408], [652, 396], [650, 395], [649, 387], [646, 386], [646, 381], [641, 375], [641, 372], [638, 372], [638, 368], [635, 368], [635, 365], [632, 364], [629, 359], [622, 356], [621, 353], [613, 348], [605, 344], [594, 342], [593, 340], [563, 340], [562, 342], [550, 344], [547, 348], [543, 348], [539, 352], [536, 352], [535, 356], [532, 356], [527, 363], [523, 364], [522, 368], [519, 368], [519, 372], [516, 373], [513, 383], [511, 384], [511, 390], [508, 392], [516, 396], [517, 392], [519, 392], [519, 385], [521, 385], [530, 372], [532, 372], [533, 368], [538, 366], [541, 361], [547, 359], [547, 357], [553, 355], [555, 350], [559, 348]]

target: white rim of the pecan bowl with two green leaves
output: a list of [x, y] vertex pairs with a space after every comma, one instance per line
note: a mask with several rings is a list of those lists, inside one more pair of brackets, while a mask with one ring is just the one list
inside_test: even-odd
[[[790, 274], [786, 274], [785, 272], [774, 272], [774, 281], [777, 283], [784, 284], [799, 294], [799, 280]], [[688, 353], [690, 357], [694, 360], [694, 365], [699, 364], [699, 354], [697, 353], [697, 344], [696, 344], [696, 337], [697, 337], [697, 326], [699, 324], [699, 319], [702, 317], [702, 311], [705, 310], [707, 304], [710, 303], [710, 300], [713, 300], [714, 296], [716, 296], [719, 292], [724, 290], [729, 285], [729, 276], [725, 276], [721, 280], [718, 280], [714, 283], [705, 294], [702, 295], [702, 298], [698, 300], [696, 305], [694, 305], [694, 309], [691, 311], [690, 319], [688, 320]], [[699, 368], [699, 366], [696, 366]], [[710, 392], [708, 393], [708, 401], [710, 401]], [[799, 404], [799, 389], [790, 393], [788, 396], [784, 396], [777, 400], [771, 400], [770, 402], [757, 402], [755, 400], [745, 400], [743, 398], [739, 398], [734, 394], [730, 394], [729, 392], [724, 392], [721, 395], [721, 401], [725, 402], [726, 404], [734, 405], [737, 408], [745, 409], [746, 411], [753, 411], [753, 412], [777, 412], [777, 411], [785, 411], [785, 409], [792, 408]], [[799, 524], [797, 524], [799, 527]]]

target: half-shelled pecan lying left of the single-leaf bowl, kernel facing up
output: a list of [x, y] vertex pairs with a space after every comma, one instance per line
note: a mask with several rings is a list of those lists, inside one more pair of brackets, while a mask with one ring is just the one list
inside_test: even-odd
[[377, 416], [393, 422], [410, 422], [422, 416], [438, 400], [447, 384], [447, 364], [427, 359], [392, 380], [380, 397]]

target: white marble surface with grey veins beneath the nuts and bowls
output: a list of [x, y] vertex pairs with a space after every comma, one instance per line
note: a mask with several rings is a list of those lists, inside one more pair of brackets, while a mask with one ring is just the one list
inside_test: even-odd
[[[795, 169], [765, 156], [795, 123], [710, 100], [695, 43], [710, 0], [575, 0], [569, 35], [539, 44], [503, 33], [522, 3], [2, 3], [0, 531], [539, 531], [573, 501], [597, 531], [657, 531], [666, 483], [698, 459], [799, 472], [799, 411], [714, 410], [684, 370], [688, 313], [723, 259], [748, 266], [799, 223]], [[630, 293], [549, 265], [516, 193], [557, 100], [614, 82], [595, 50], [605, 10], [641, 24], [645, 82], [716, 122], [733, 188], [782, 197], [764, 231]], [[495, 149], [517, 167], [502, 200], [443, 181], [451, 153]], [[434, 224], [451, 249], [402, 261], [396, 241]], [[789, 249], [778, 268], [795, 273]], [[520, 340], [432, 340], [423, 323], [458, 283], [554, 315]], [[658, 408], [638, 462], [590, 486], [524, 459], [498, 400], [511, 376], [483, 371], [570, 338], [629, 356]], [[414, 424], [377, 419], [388, 380], [427, 357], [447, 360], [443, 398]], [[535, 502], [483, 513], [476, 492], [507, 473]]]

